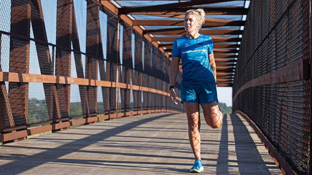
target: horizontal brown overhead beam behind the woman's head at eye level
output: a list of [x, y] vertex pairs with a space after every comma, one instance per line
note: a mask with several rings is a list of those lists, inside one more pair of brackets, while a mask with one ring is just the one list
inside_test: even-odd
[[[133, 26], [184, 26], [184, 20], [134, 20]], [[243, 26], [245, 21], [205, 21], [203, 27]], [[184, 29], [184, 27], [183, 27]]]

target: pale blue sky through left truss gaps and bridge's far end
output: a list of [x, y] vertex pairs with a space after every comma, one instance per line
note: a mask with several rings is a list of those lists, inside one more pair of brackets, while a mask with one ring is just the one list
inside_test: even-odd
[[[51, 44], [56, 44], [56, 11], [57, 11], [57, 1], [50, 0], [41, 0], [43, 17], [45, 21], [46, 34], [48, 42]], [[79, 44], [81, 52], [85, 53], [85, 45], [86, 45], [86, 6], [87, 3], [85, 0], [74, 0], [74, 9], [76, 14], [76, 22], [77, 22], [77, 30], [79, 36]], [[11, 0], [2, 0], [0, 5], [0, 14], [2, 14], [2, 18], [0, 21], [0, 30], [10, 32], [10, 11], [7, 9], [11, 8]], [[106, 39], [107, 39], [107, 15], [104, 12], [100, 11], [100, 28], [101, 28], [101, 37], [102, 37], [102, 48], [104, 59], [106, 59]], [[120, 27], [122, 29], [122, 26]], [[123, 31], [123, 30], [121, 30]], [[32, 32], [32, 26], [30, 29], [30, 36], [34, 38]], [[122, 41], [123, 33], [120, 34], [120, 40]], [[8, 35], [2, 34], [2, 42], [1, 42], [1, 67], [3, 72], [9, 72], [9, 44], [10, 37]], [[134, 44], [135, 38], [132, 35], [132, 56], [134, 62]], [[120, 50], [122, 50], [123, 44], [120, 45]], [[142, 43], [142, 48], [144, 48], [144, 43]], [[52, 46], [49, 46], [50, 56], [52, 56]], [[143, 49], [144, 50], [144, 49]], [[151, 50], [152, 53], [152, 50]], [[54, 53], [55, 55], [55, 53]], [[120, 53], [120, 58], [122, 58], [122, 53]], [[143, 65], [144, 65], [144, 53], [142, 53], [143, 57]], [[85, 73], [85, 55], [81, 54], [81, 59], [83, 63], [83, 71]], [[120, 60], [122, 63], [122, 60]], [[30, 41], [30, 63], [29, 63], [29, 73], [30, 74], [41, 74], [39, 68], [39, 62], [37, 58], [37, 50], [34, 41]], [[152, 58], [151, 58], [152, 64]], [[134, 64], [133, 64], [134, 65]], [[55, 66], [54, 66], [55, 68]], [[106, 68], [106, 62], [105, 62]], [[106, 71], [106, 70], [105, 70]], [[55, 74], [55, 73], [54, 73]], [[98, 75], [100, 75], [98, 71]], [[77, 78], [76, 66], [74, 61], [73, 52], [71, 53], [71, 77]], [[100, 77], [98, 76], [98, 80]], [[6, 82], [8, 86], [8, 82]], [[7, 87], [8, 90], [8, 87]], [[226, 103], [227, 106], [232, 106], [232, 87], [217, 87], [218, 100], [219, 102]], [[120, 95], [119, 95], [120, 97]], [[37, 98], [37, 99], [45, 99], [43, 84], [42, 83], [29, 83], [29, 98]], [[78, 85], [71, 85], [71, 102], [80, 102], [80, 94]], [[101, 88], [98, 88], [98, 102], [103, 102]], [[131, 101], [133, 101], [133, 97], [131, 95]], [[142, 98], [143, 100], [143, 98]], [[119, 99], [120, 101], [120, 99]]]

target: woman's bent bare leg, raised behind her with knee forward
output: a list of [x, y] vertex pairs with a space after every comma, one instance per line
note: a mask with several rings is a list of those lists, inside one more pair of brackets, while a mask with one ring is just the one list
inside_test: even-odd
[[219, 128], [222, 124], [223, 114], [220, 111], [218, 103], [212, 102], [209, 104], [201, 104], [201, 106], [207, 125], [212, 128]]

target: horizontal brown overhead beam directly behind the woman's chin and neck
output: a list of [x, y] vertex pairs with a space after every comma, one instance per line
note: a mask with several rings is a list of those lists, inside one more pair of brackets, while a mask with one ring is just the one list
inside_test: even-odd
[[[241, 30], [201, 30], [199, 33], [203, 35], [241, 35], [243, 31]], [[170, 29], [158, 29], [158, 30], [144, 30], [143, 34], [153, 34], [153, 35], [186, 35], [184, 27], [170, 28]]]

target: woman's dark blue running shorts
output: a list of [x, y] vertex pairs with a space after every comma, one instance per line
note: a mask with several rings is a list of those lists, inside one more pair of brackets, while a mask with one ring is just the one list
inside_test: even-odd
[[181, 103], [209, 104], [218, 101], [216, 82], [181, 84]]

